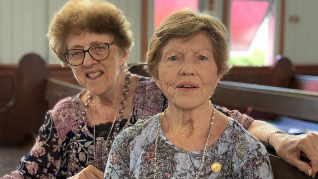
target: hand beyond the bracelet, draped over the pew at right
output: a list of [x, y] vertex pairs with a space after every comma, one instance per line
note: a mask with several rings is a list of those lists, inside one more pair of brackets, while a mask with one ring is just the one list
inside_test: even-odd
[[[307, 175], [315, 177], [318, 171], [318, 136], [315, 133], [299, 136], [282, 133], [273, 134], [269, 143], [274, 147], [278, 156], [291, 165], [294, 165]], [[301, 155], [310, 162], [300, 160]]]

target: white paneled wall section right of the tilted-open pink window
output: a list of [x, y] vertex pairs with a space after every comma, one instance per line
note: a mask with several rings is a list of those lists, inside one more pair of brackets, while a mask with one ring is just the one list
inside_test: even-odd
[[[284, 54], [293, 64], [318, 64], [317, 8], [317, 0], [286, 0]], [[290, 22], [290, 16], [299, 21]]]

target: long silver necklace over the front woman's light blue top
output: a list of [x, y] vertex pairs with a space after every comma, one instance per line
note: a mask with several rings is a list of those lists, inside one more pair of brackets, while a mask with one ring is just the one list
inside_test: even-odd
[[[201, 170], [202, 170], [203, 163], [204, 163], [204, 160], [205, 160], [206, 151], [207, 151], [207, 149], [208, 149], [208, 142], [209, 142], [209, 139], [210, 139], [211, 127], [212, 127], [212, 125], [213, 125], [213, 119], [214, 119], [214, 114], [215, 114], [213, 105], [212, 105], [212, 108], [213, 108], [213, 112], [212, 112], [211, 123], [210, 123], [209, 131], [208, 131], [208, 137], [206, 138], [205, 143], [204, 143], [204, 149], [203, 149], [203, 154], [202, 154], [202, 158], [201, 158], [201, 165], [200, 165], [200, 168], [198, 169], [198, 170], [199, 170], [198, 173], [196, 174], [196, 177], [195, 177], [196, 179], [197, 179], [197, 178], [199, 177], [199, 175], [200, 175], [200, 172], [201, 172]], [[158, 163], [157, 163], [157, 151], [158, 151], [159, 132], [160, 132], [161, 124], [162, 124], [162, 119], [163, 119], [164, 116], [166, 115], [166, 112], [167, 112], [167, 109], [165, 109], [164, 112], [162, 113], [162, 118], [161, 118], [161, 120], [160, 120], [160, 126], [158, 126], [157, 133], [156, 133], [156, 140], [155, 140], [155, 157], [154, 157], [154, 167], [153, 167], [154, 179], [156, 179], [156, 173], [157, 173], [157, 170], [159, 170], [159, 166], [158, 166]]]

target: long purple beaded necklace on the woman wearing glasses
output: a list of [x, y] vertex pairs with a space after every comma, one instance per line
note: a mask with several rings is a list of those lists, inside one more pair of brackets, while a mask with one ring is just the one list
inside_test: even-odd
[[[113, 123], [112, 123], [112, 125], [110, 127], [109, 133], [108, 133], [107, 138], [106, 138], [105, 151], [101, 152], [102, 153], [102, 156], [101, 156], [102, 160], [107, 159], [107, 157], [108, 157], [107, 156], [107, 152], [110, 150], [111, 145], [112, 145], [115, 137], [119, 133], [119, 130], [120, 130], [120, 126], [119, 125], [121, 124], [121, 121], [122, 121], [122, 118], [123, 118], [123, 112], [124, 112], [124, 109], [125, 109], [126, 99], [127, 99], [128, 92], [129, 92], [130, 78], [131, 78], [131, 73], [129, 71], [127, 71], [127, 76], [125, 78], [125, 83], [123, 85], [123, 91], [122, 91], [122, 94], [121, 94], [121, 102], [119, 103], [119, 106], [117, 108], [117, 111], [116, 111], [116, 114], [115, 114], [115, 117], [114, 117], [114, 121], [113, 121]], [[89, 104], [90, 100], [92, 99], [92, 96], [93, 96], [92, 94], [87, 96], [88, 98], [86, 99], [86, 103], [85, 103], [85, 107], [86, 108], [89, 106], [88, 104]], [[100, 164], [98, 164], [98, 162], [97, 162], [97, 157], [100, 157], [100, 156], [96, 155], [96, 148], [97, 147], [96, 147], [96, 137], [95, 137], [95, 124], [96, 124], [96, 105], [95, 105], [95, 102], [96, 102], [96, 97], [94, 97], [94, 101], [93, 101], [94, 163], [95, 163], [95, 166], [97, 168], [102, 169], [103, 167], [106, 167], [106, 162], [104, 162], [101, 166], [100, 166], [100, 164], [102, 163], [102, 160], [99, 161]], [[85, 109], [85, 111], [87, 111], [87, 109]], [[115, 124], [116, 118], [117, 118], [117, 123]], [[114, 127], [114, 124], [115, 124], [115, 127]], [[114, 132], [111, 133], [113, 129], [114, 129]], [[111, 136], [111, 134], [113, 134], [113, 135]]]

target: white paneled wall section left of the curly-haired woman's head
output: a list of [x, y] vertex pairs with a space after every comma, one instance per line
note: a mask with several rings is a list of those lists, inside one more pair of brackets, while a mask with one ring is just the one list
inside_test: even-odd
[[22, 55], [36, 52], [48, 57], [46, 3], [43, 0], [0, 1], [0, 59], [17, 63]]

